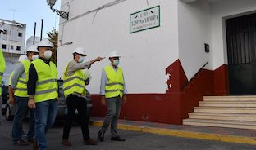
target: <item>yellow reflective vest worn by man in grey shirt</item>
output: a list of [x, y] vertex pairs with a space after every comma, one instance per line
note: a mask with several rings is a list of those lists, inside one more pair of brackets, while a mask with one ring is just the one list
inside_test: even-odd
[[29, 97], [27, 84], [29, 80], [29, 69], [30, 69], [30, 60], [22, 60], [21, 63], [23, 64], [24, 71], [25, 71], [25, 78], [20, 77], [17, 82], [16, 90], [14, 95], [19, 97]]

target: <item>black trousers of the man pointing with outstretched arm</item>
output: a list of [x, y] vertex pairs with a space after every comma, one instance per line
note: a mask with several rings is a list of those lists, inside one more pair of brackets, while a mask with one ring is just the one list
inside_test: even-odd
[[68, 139], [71, 131], [72, 123], [75, 119], [75, 110], [79, 113], [79, 123], [83, 133], [84, 140], [89, 139], [89, 127], [87, 116], [87, 103], [85, 98], [78, 97], [77, 95], [68, 95], [66, 98], [67, 115], [66, 123], [63, 130], [62, 139]]

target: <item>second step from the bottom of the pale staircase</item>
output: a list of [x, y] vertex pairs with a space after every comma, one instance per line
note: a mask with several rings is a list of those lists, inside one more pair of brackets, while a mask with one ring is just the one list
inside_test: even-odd
[[209, 119], [222, 121], [256, 121], [255, 114], [243, 113], [189, 113], [191, 119]]

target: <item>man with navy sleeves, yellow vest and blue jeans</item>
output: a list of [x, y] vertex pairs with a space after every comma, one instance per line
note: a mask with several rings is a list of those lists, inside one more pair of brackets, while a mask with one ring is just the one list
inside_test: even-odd
[[34, 109], [34, 149], [48, 149], [46, 133], [53, 126], [57, 114], [57, 68], [50, 61], [53, 44], [44, 39], [38, 44], [39, 59], [29, 69], [28, 106]]

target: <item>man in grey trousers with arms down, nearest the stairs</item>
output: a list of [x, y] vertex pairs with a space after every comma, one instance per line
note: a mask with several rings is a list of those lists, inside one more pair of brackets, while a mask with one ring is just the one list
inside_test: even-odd
[[120, 55], [117, 51], [112, 51], [109, 55], [110, 65], [103, 68], [100, 95], [102, 95], [101, 103], [107, 104], [107, 115], [103, 122], [101, 130], [98, 131], [98, 139], [104, 140], [104, 134], [111, 124], [111, 140], [125, 141], [117, 134], [118, 117], [121, 110], [122, 99], [124, 103], [127, 100], [126, 83], [122, 69], [118, 67]]

